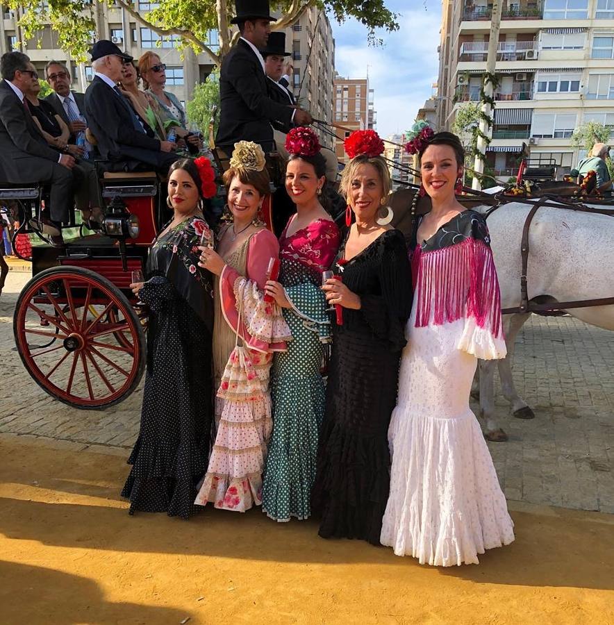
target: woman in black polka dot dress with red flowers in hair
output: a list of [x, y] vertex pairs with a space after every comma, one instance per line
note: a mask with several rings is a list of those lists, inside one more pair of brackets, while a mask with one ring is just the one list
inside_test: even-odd
[[187, 519], [207, 469], [213, 298], [197, 246], [213, 244], [202, 213], [203, 197], [215, 192], [212, 174], [206, 159], [174, 163], [168, 183], [173, 219], [151, 247], [149, 279], [131, 285], [149, 306], [149, 328], [141, 426], [122, 490], [130, 514], [167, 512]]

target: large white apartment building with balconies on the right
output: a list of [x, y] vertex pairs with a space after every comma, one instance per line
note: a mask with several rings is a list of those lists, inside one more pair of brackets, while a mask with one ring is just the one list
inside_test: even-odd
[[[530, 144], [534, 163], [570, 171], [583, 150], [574, 128], [595, 121], [614, 139], [614, 0], [503, 0], [488, 165], [506, 179]], [[479, 101], [490, 38], [488, 0], [443, 0], [437, 122]]]

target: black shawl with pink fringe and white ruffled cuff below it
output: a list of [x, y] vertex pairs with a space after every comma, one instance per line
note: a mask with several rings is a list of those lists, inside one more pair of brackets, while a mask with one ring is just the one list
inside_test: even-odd
[[465, 210], [412, 256], [415, 327], [440, 326], [465, 319], [459, 349], [478, 358], [505, 356], [501, 294], [486, 221]]

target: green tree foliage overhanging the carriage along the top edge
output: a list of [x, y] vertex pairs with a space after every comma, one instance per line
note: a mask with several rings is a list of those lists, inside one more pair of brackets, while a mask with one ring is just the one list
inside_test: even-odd
[[[78, 60], [86, 60], [92, 33], [97, 31], [97, 6], [110, 5], [111, 0], [4, 0], [13, 10], [21, 8], [19, 26], [26, 40], [40, 40], [45, 22], [58, 33], [58, 45]], [[238, 31], [230, 24], [234, 12], [233, 0], [160, 0], [158, 8], [149, 12], [138, 10], [133, 0], [115, 0], [142, 26], [169, 37], [178, 35], [182, 47], [206, 52], [215, 65], [221, 63]], [[273, 0], [272, 10], [281, 17], [272, 24], [274, 30], [286, 28], [301, 17], [310, 6], [328, 10], [338, 22], [355, 17], [367, 28], [367, 37], [376, 44], [375, 29], [395, 31], [399, 28], [397, 15], [385, 7], [385, 0]], [[210, 45], [209, 32], [219, 33], [219, 52]]]

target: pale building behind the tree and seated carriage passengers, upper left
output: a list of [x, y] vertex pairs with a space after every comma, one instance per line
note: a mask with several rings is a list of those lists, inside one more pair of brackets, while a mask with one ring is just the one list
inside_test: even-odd
[[[146, 13], [156, 6], [156, 2], [135, 0], [135, 7], [142, 13]], [[18, 14], [6, 7], [3, 7], [1, 12], [1, 53], [13, 50], [26, 53], [41, 76], [44, 75], [42, 70], [49, 60], [63, 60], [72, 75], [72, 88], [79, 92], [84, 92], [88, 88], [93, 77], [92, 67], [87, 63], [76, 63], [68, 53], [60, 49], [58, 47], [58, 35], [53, 32], [51, 26], [43, 28], [40, 47], [38, 47], [37, 40], [24, 40], [21, 29], [17, 25]], [[147, 51], [154, 51], [158, 54], [162, 62], [167, 65], [167, 88], [176, 94], [181, 103], [190, 99], [194, 85], [199, 81], [204, 81], [213, 69], [210, 57], [205, 53], [196, 55], [191, 49], [185, 49], [182, 59], [182, 53], [177, 49], [179, 38], [176, 35], [161, 38], [151, 29], [144, 28], [142, 24], [136, 22], [123, 8], [113, 6], [113, 4], [96, 3], [94, 19], [96, 29], [92, 36], [92, 42], [99, 39], [110, 39], [135, 58], [139, 58]], [[217, 50], [216, 31], [210, 31], [208, 43], [214, 51]]]

